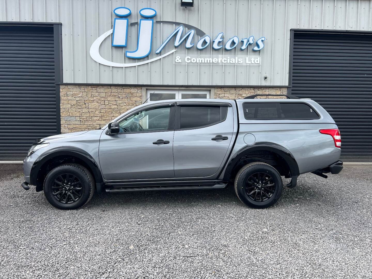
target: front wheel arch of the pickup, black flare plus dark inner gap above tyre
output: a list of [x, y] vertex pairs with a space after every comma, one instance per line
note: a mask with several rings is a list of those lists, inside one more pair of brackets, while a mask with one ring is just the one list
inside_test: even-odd
[[[48, 150], [39, 156], [31, 168], [30, 182], [36, 186], [36, 191], [39, 192], [43, 189], [45, 176], [51, 168], [60, 166], [64, 163], [77, 163], [80, 164], [92, 173], [96, 186], [103, 183], [102, 173], [99, 169], [97, 162], [85, 150], [72, 147], [56, 147]], [[99, 187], [97, 187], [97, 190]]]

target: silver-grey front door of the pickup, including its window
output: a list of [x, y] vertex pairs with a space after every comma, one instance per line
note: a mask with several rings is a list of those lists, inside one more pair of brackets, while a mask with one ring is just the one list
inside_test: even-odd
[[133, 112], [119, 120], [119, 134], [103, 132], [99, 145], [103, 177], [106, 180], [173, 178], [173, 111], [173, 103], [168, 103]]

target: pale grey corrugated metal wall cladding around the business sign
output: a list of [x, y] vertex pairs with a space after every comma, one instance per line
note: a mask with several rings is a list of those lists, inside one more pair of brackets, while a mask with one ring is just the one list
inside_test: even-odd
[[[237, 35], [256, 39], [266, 37], [259, 52], [260, 66], [173, 65], [173, 55], [137, 67], [116, 68], [100, 65], [89, 55], [92, 42], [112, 29], [112, 10], [125, 6], [132, 10], [130, 22], [140, 19], [144, 7], [157, 10], [156, 20], [171, 20], [196, 26], [215, 37]], [[195, 0], [194, 7], [180, 7], [180, 0], [0, 0], [0, 21], [61, 22], [63, 75], [65, 83], [126, 83], [176, 85], [288, 85], [289, 32], [291, 28], [371, 30], [370, 0]], [[156, 24], [153, 49], [161, 45], [174, 26]], [[127, 49], [137, 45], [138, 25], [129, 28]], [[169, 44], [163, 53], [173, 49]], [[249, 51], [230, 51], [229, 55], [257, 55]], [[125, 58], [125, 48], [111, 47], [106, 39], [100, 48], [102, 57], [115, 62], [133, 62]], [[236, 53], [234, 53], [236, 52]], [[213, 51], [221, 54], [222, 51]], [[175, 54], [211, 54], [179, 47]], [[227, 53], [225, 53], [227, 54]], [[154, 51], [150, 55], [157, 55]], [[124, 59], [125, 58], [125, 59]], [[267, 76], [267, 81], [264, 81]]]

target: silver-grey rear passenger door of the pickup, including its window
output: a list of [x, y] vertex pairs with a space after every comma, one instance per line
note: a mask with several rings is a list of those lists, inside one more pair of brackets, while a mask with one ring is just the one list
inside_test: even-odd
[[230, 103], [178, 102], [173, 138], [176, 178], [213, 176], [224, 163], [233, 131]]

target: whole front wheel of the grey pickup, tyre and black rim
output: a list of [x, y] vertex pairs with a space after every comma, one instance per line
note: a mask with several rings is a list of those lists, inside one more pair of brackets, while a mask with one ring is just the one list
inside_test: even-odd
[[94, 179], [92, 174], [78, 164], [64, 164], [47, 174], [44, 194], [48, 202], [59, 209], [76, 209], [92, 198]]

